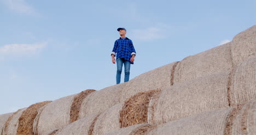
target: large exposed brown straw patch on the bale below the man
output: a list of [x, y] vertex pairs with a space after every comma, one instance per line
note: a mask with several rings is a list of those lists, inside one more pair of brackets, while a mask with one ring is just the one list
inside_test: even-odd
[[129, 127], [132, 125], [147, 123], [150, 98], [159, 92], [160, 90], [139, 92], [127, 99], [123, 109], [120, 111], [120, 126]]

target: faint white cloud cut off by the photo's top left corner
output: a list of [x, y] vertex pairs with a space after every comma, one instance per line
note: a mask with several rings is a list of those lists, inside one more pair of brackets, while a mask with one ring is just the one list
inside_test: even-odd
[[36, 10], [28, 5], [25, 0], [2, 0], [3, 3], [13, 11], [21, 14], [36, 14]]

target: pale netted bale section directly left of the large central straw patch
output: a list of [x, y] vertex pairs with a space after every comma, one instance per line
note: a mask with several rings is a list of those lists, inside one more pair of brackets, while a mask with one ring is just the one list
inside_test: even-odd
[[98, 116], [93, 134], [100, 135], [118, 130], [120, 128], [119, 111], [123, 108], [123, 105], [124, 103], [116, 104]]

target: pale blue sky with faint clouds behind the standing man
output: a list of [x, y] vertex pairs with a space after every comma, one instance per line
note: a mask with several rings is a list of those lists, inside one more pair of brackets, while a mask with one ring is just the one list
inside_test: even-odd
[[231, 41], [255, 15], [255, 0], [0, 0], [0, 114], [114, 85], [118, 27], [137, 51], [132, 79]]

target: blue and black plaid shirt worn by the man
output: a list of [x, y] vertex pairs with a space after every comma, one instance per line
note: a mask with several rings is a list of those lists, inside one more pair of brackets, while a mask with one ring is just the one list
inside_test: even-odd
[[[119, 39], [115, 40], [112, 54], [117, 56], [116, 58], [124, 58], [124, 60], [130, 61], [131, 56], [136, 55], [132, 40], [127, 37], [125, 39], [121, 39], [120, 37]], [[133, 62], [131, 62], [131, 64], [133, 64]]]

